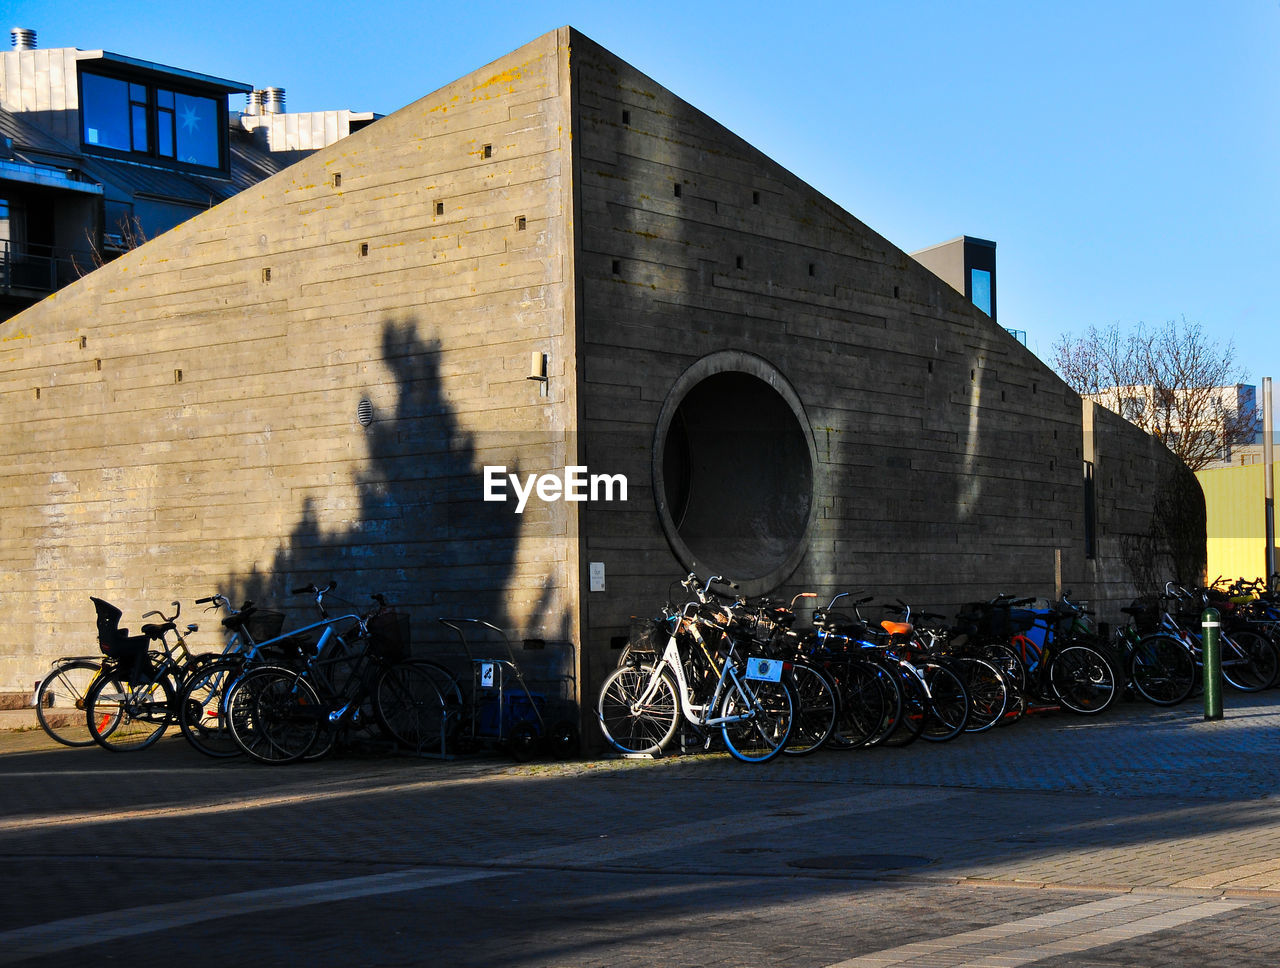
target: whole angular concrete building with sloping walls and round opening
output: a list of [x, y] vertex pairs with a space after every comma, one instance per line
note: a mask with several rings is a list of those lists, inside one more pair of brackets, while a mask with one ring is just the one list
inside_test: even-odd
[[0, 689], [93, 652], [90, 594], [337, 577], [590, 700], [690, 570], [1106, 608], [1161, 515], [1203, 554], [1158, 443], [571, 28], [15, 316], [0, 397]]

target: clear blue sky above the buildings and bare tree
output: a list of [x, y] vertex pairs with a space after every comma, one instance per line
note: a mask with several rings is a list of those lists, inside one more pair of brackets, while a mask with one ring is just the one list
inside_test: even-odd
[[[6, 0], [106, 49], [390, 114], [573, 26], [913, 251], [995, 239], [1000, 320], [1185, 316], [1280, 378], [1280, 0]], [[1280, 393], [1280, 388], [1277, 388]]]

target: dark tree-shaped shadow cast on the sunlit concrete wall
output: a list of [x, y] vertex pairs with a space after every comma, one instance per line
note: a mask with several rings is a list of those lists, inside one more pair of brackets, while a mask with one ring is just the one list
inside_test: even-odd
[[[475, 435], [444, 398], [440, 351], [439, 341], [424, 339], [412, 321], [383, 324], [380, 359], [394, 376], [394, 411], [375, 412], [361, 428], [352, 407], [349, 428], [316, 429], [316, 434], [362, 434], [365, 456], [343, 465], [352, 469], [349, 480], [317, 481], [298, 522], [282, 535], [270, 574], [255, 571], [234, 580], [244, 599], [289, 611], [291, 625], [310, 622], [312, 599], [291, 590], [334, 579], [332, 604], [365, 611], [370, 595], [379, 593], [407, 609], [417, 653], [456, 647], [456, 636], [436, 622], [452, 615], [506, 629], [518, 657], [518, 636], [525, 633], [511, 627], [507, 592], [521, 517], [508, 504], [483, 499]], [[355, 506], [337, 507], [352, 503], [353, 489]], [[521, 621], [557, 629], [564, 639], [568, 617], [548, 615], [552, 594], [548, 579], [534, 612]]]

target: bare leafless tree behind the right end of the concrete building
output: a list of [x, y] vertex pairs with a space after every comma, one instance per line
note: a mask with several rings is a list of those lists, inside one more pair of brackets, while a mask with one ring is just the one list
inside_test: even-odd
[[1235, 346], [1204, 335], [1198, 323], [1089, 327], [1064, 334], [1050, 361], [1076, 393], [1089, 397], [1157, 438], [1193, 471], [1233, 447], [1252, 443], [1257, 412], [1235, 388]]

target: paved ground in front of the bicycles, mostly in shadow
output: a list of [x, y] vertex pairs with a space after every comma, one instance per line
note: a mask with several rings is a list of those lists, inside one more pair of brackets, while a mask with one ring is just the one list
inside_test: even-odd
[[1280, 691], [933, 745], [214, 762], [0, 734], [0, 965], [1275, 965]]

